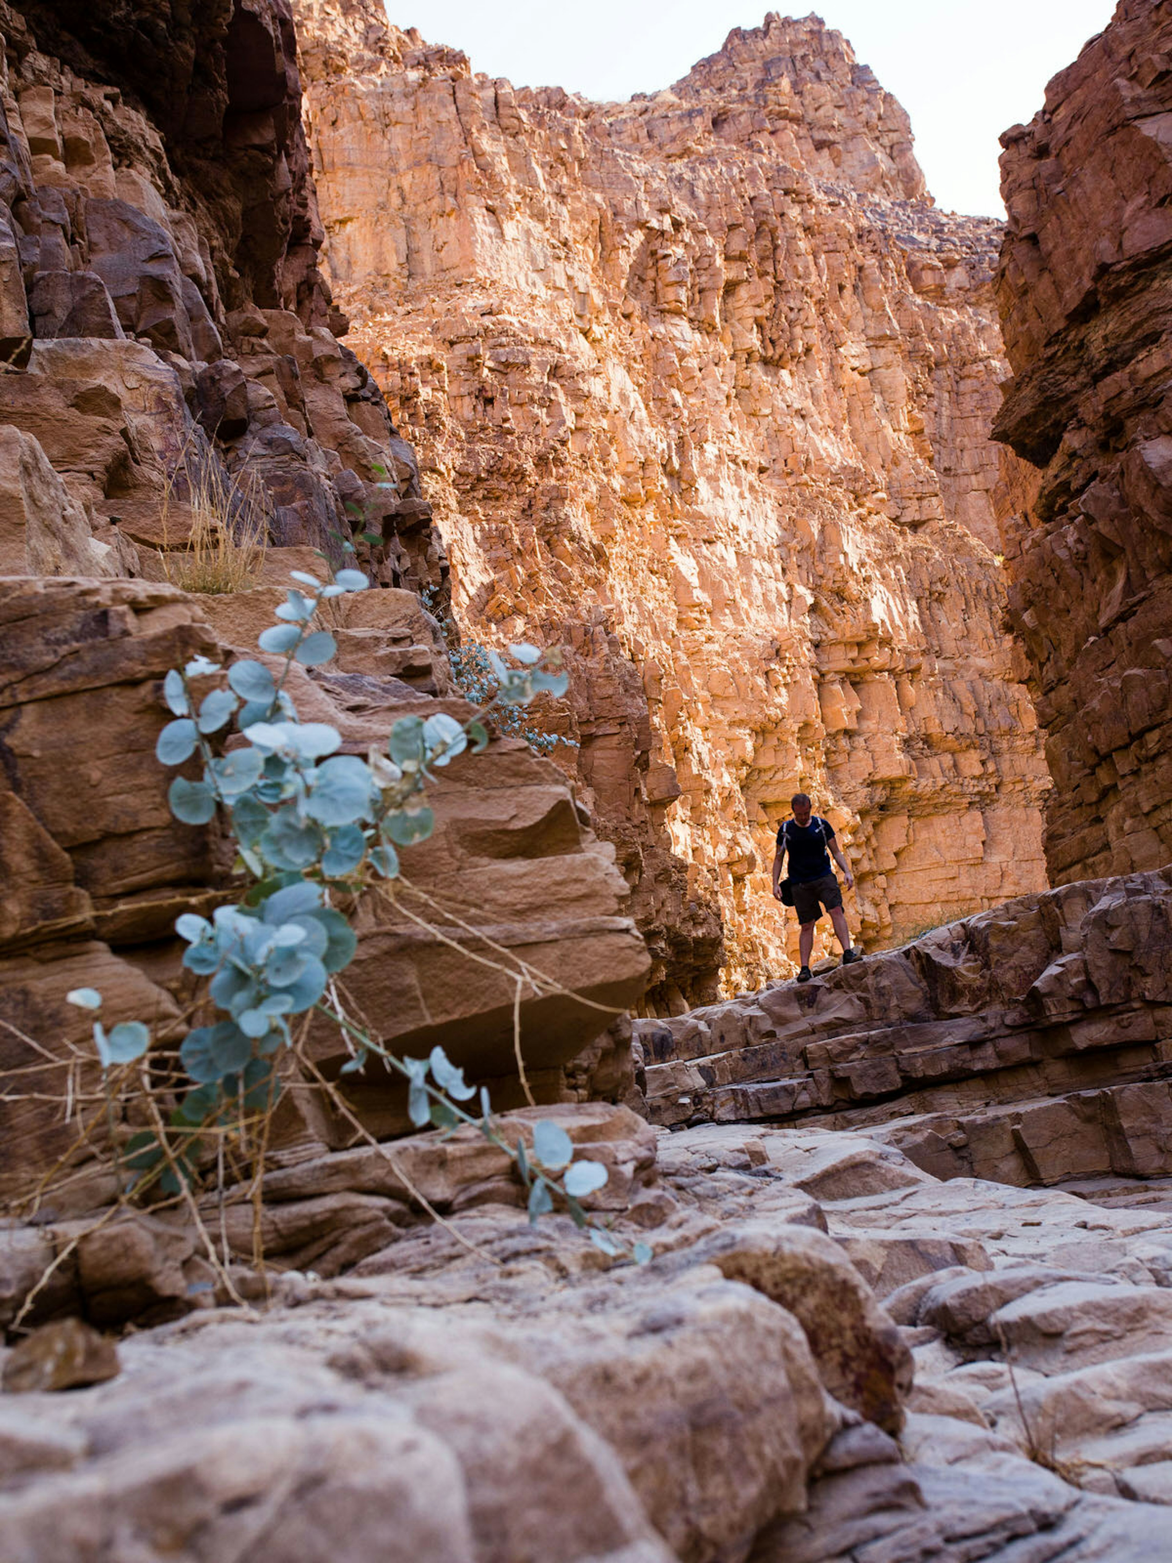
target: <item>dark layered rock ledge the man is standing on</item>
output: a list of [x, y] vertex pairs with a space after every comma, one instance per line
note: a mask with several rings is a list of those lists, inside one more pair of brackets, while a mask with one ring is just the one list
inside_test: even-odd
[[661, 1124], [877, 1125], [941, 1177], [1172, 1174], [1172, 871], [1027, 896], [917, 944], [636, 1022]]

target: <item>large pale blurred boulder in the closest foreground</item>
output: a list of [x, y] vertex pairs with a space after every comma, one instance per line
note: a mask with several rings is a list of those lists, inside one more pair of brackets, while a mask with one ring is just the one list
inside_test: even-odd
[[802, 1507], [836, 1418], [781, 1308], [708, 1268], [566, 1296], [475, 1263], [491, 1313], [400, 1289], [131, 1335], [116, 1385], [31, 1397], [75, 1458], [0, 1494], [3, 1555], [219, 1557], [263, 1522], [302, 1563], [714, 1563]]

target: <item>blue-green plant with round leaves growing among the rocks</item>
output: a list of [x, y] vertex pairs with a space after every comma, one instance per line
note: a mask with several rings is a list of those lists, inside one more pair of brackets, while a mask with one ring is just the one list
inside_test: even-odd
[[[292, 1046], [291, 1024], [309, 1011], [331, 1019], [348, 1036], [353, 1057], [344, 1074], [361, 1072], [370, 1055], [397, 1071], [408, 1085], [408, 1114], [417, 1128], [452, 1132], [475, 1125], [514, 1161], [528, 1196], [530, 1219], [564, 1200], [578, 1225], [589, 1225], [605, 1252], [647, 1258], [645, 1246], [625, 1249], [591, 1224], [581, 1200], [606, 1182], [599, 1161], [573, 1160], [573, 1146], [559, 1125], [542, 1119], [534, 1127], [531, 1153], [522, 1141], [509, 1144], [497, 1130], [488, 1094], [473, 1114], [459, 1103], [477, 1093], [442, 1047], [428, 1058], [397, 1058], [369, 1033], [341, 1014], [330, 996], [331, 978], [356, 950], [347, 917], [331, 905], [336, 889], [361, 891], [367, 875], [394, 878], [398, 847], [427, 841], [434, 814], [425, 802], [434, 772], [466, 750], [488, 744], [483, 716], [491, 710], [520, 710], [538, 694], [564, 694], [566, 675], [542, 667], [531, 646], [509, 649], [517, 666], [492, 652], [497, 689], [469, 722], [436, 711], [428, 717], [400, 717], [386, 750], [339, 753], [339, 731], [323, 722], [302, 722], [286, 689], [295, 664], [317, 667], [336, 653], [328, 630], [316, 628], [323, 602], [364, 591], [366, 577], [344, 569], [322, 581], [294, 570], [295, 588], [277, 608], [278, 622], [258, 639], [259, 650], [283, 656], [277, 672], [245, 658], [227, 671], [198, 656], [172, 669], [163, 699], [173, 721], [159, 733], [156, 756], [167, 766], [202, 763], [198, 780], [177, 777], [170, 807], [177, 819], [208, 824], [222, 814], [236, 838], [239, 864], [252, 885], [236, 905], [217, 907], [213, 916], [184, 913], [175, 930], [186, 944], [183, 964], [208, 983], [219, 1019], [197, 1025], [180, 1046], [180, 1063], [191, 1082], [170, 1113], [172, 1146], [156, 1135], [131, 1136], [125, 1164], [141, 1185], [158, 1180], [167, 1193], [191, 1182], [198, 1166], [202, 1138], [220, 1128], [233, 1111], [269, 1111], [280, 1093], [278, 1055]], [[195, 683], [222, 675], [197, 691]], [[241, 742], [223, 752], [213, 738], [234, 724]], [[94, 989], [75, 989], [70, 1002], [97, 1010]], [[103, 1074], [145, 1055], [147, 1027], [122, 1022], [106, 1032], [94, 1022]]]

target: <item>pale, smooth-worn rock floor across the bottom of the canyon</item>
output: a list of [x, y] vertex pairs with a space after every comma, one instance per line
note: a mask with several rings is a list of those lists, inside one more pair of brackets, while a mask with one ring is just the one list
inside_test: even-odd
[[[0, 1402], [5, 1558], [1167, 1555], [1172, 1185], [942, 1183], [866, 1135], [620, 1108], [588, 1132], [649, 1266], [489, 1202], [133, 1333], [117, 1379]], [[378, 1199], [345, 1158], [316, 1182], [319, 1221]]]

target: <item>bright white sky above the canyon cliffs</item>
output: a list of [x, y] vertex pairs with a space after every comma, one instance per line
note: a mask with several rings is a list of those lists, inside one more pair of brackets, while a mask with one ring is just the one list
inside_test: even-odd
[[[813, 5], [903, 103], [938, 205], [997, 217], [999, 134], [1034, 116], [1050, 77], [1114, 11], [1114, 0], [799, 3], [791, 14]], [[616, 100], [678, 81], [731, 28], [759, 27], [769, 0], [388, 0], [388, 9], [430, 44], [463, 48], [473, 70]]]

